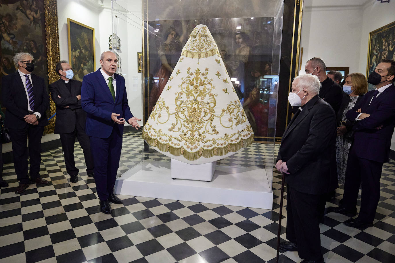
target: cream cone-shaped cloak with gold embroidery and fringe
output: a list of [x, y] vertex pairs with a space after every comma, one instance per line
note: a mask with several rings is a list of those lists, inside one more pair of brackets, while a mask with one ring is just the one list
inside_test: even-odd
[[154, 149], [188, 164], [232, 155], [254, 132], [207, 26], [194, 28], [143, 128]]

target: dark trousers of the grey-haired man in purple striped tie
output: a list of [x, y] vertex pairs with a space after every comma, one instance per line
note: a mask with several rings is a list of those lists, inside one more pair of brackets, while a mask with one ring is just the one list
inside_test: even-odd
[[[29, 183], [27, 159], [30, 160], [30, 179], [40, 177], [41, 138], [44, 127], [28, 125], [23, 129], [8, 129], [12, 141], [12, 154], [17, 179], [20, 183]], [[26, 141], [29, 138], [29, 153]]]

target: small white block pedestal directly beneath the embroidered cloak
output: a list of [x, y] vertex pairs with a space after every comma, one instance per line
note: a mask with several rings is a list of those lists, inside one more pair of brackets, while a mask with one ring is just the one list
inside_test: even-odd
[[186, 164], [185, 162], [171, 158], [171, 178], [211, 182], [216, 165], [217, 161], [206, 164]]

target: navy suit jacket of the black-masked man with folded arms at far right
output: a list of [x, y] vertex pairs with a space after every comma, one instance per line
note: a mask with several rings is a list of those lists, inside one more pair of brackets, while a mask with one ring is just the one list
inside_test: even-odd
[[[361, 101], [347, 112], [346, 117], [354, 121], [359, 114], [356, 112], [359, 108], [362, 108], [363, 113], [371, 115], [355, 121], [352, 147], [355, 147], [355, 153], [359, 158], [387, 162], [395, 127], [395, 86], [392, 84], [386, 88], [378, 97], [373, 98], [369, 105], [373, 92], [374, 90], [367, 92]], [[380, 125], [383, 125], [383, 128], [376, 129]]]

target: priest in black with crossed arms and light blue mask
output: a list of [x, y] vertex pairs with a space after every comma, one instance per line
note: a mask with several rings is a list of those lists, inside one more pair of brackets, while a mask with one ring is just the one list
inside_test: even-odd
[[81, 107], [82, 82], [72, 79], [73, 69], [64, 60], [56, 64], [56, 72], [60, 75], [60, 79], [49, 85], [52, 100], [56, 105], [54, 133], [58, 133], [60, 136], [70, 182], [77, 183], [79, 170], [75, 167], [74, 161], [75, 137], [77, 137], [84, 152], [87, 174], [93, 177], [93, 158], [90, 152], [89, 137], [85, 133], [87, 114]]

